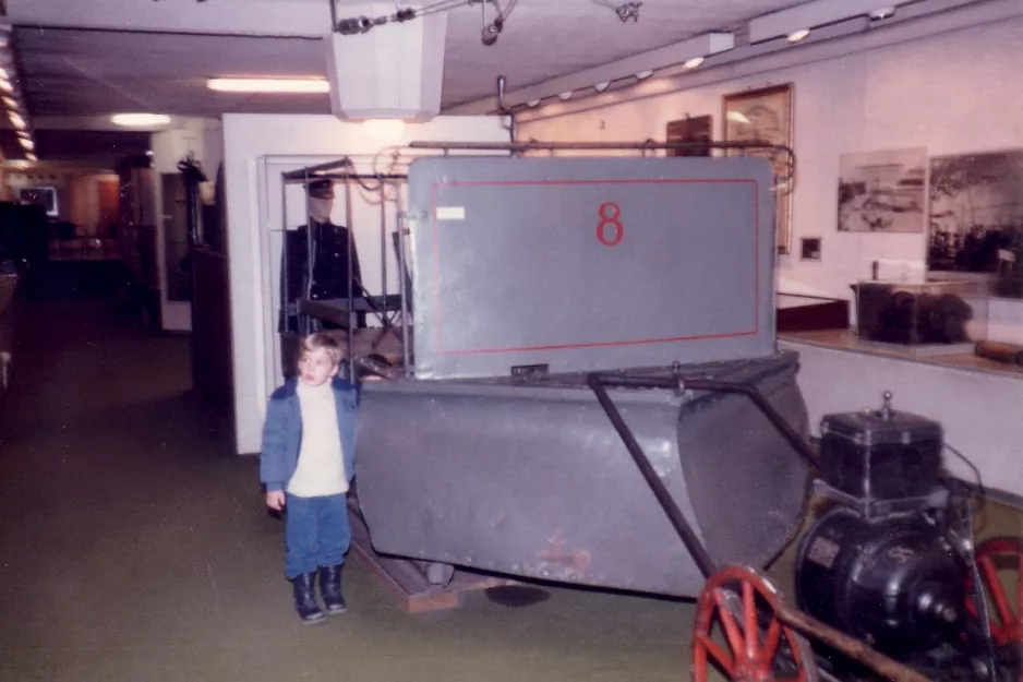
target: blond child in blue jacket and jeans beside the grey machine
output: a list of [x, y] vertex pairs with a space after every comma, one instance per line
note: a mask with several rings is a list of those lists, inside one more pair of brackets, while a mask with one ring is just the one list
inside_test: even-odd
[[287, 510], [285, 574], [305, 623], [324, 620], [316, 602], [317, 572], [327, 613], [346, 609], [341, 567], [351, 543], [347, 498], [354, 474], [359, 394], [337, 375], [342, 358], [330, 336], [306, 337], [298, 376], [270, 396], [263, 427], [260, 477], [266, 505]]

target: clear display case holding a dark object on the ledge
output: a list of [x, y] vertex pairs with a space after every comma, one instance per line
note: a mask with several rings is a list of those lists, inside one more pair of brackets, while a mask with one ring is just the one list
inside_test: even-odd
[[859, 340], [917, 352], [972, 352], [987, 339], [988, 288], [973, 280], [853, 285]]

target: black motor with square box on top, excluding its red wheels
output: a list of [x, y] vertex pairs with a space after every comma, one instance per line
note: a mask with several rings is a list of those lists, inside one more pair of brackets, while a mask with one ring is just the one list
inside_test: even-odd
[[[987, 618], [967, 608], [983, 605], [972, 511], [943, 474], [941, 426], [892, 409], [891, 394], [879, 410], [823, 418], [816, 492], [830, 508], [799, 543], [796, 598], [934, 680], [1015, 681], [1018, 651], [992, 646]], [[822, 662], [858, 677], [840, 656]]]

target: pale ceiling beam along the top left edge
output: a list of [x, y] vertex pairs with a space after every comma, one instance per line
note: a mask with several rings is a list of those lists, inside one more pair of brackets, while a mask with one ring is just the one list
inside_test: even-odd
[[7, 0], [14, 26], [322, 38], [326, 0]]

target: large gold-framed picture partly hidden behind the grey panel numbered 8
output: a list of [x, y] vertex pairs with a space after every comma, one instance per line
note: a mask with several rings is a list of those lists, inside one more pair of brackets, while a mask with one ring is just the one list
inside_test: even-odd
[[[792, 83], [724, 96], [724, 142], [760, 142], [792, 147]], [[729, 154], [742, 152], [731, 151]], [[790, 159], [785, 154], [771, 154], [769, 151], [749, 151], [746, 154], [770, 158], [775, 177], [789, 175]], [[792, 249], [792, 180], [786, 184], [778, 187], [775, 192], [779, 253], [789, 253]]]

